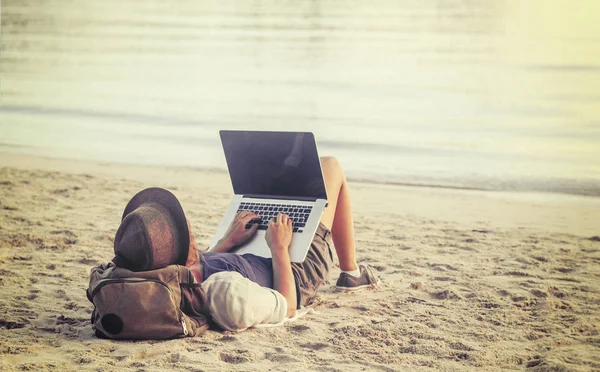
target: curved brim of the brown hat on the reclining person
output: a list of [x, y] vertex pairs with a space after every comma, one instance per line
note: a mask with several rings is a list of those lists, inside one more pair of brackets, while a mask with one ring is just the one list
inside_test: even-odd
[[[139, 206], [147, 203], [157, 203], [162, 205], [167, 209], [171, 215], [171, 218], [173, 218], [173, 221], [176, 225], [175, 228], [177, 229], [182, 244], [181, 254], [177, 259], [176, 264], [185, 265], [190, 250], [190, 231], [188, 229], [187, 219], [185, 218], [183, 208], [181, 207], [181, 204], [179, 204], [179, 200], [177, 200], [175, 195], [173, 195], [170, 191], [160, 187], [151, 187], [138, 192], [133, 198], [131, 198], [129, 203], [127, 203], [127, 206], [125, 206], [121, 221], [123, 221], [129, 213], [136, 210]], [[113, 262], [115, 263], [120, 261], [122, 261], [122, 258], [119, 256], [115, 256], [115, 258], [113, 258]]]

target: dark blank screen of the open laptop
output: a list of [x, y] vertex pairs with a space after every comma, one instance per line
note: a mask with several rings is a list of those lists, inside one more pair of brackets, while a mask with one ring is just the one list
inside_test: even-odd
[[327, 199], [312, 133], [221, 131], [236, 194]]

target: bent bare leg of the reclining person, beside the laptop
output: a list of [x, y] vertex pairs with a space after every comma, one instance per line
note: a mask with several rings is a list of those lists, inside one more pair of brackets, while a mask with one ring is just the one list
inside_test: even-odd
[[346, 176], [340, 162], [334, 157], [321, 158], [321, 168], [329, 203], [321, 217], [321, 222], [331, 230], [335, 251], [340, 260], [340, 269], [353, 271], [358, 269], [358, 265], [350, 190]]

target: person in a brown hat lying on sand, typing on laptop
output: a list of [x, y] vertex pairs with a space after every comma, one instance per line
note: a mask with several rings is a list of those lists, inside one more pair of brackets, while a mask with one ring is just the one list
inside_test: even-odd
[[[236, 247], [250, 239], [258, 229], [260, 216], [250, 211], [238, 213], [225, 236], [209, 251], [199, 252], [189, 221], [187, 226], [182, 226], [185, 224], [183, 221], [186, 221], [183, 211], [176, 200], [171, 200], [181, 211], [181, 218], [179, 221], [176, 218], [173, 224], [179, 223], [180, 226], [176, 229], [184, 231], [183, 234], [189, 234], [189, 249], [183, 250], [187, 251], [185, 266], [190, 268], [198, 283], [203, 283], [202, 287], [207, 294], [208, 308], [213, 318], [216, 314], [220, 315], [221, 322], [218, 323], [224, 328], [243, 329], [248, 324], [256, 323], [255, 320], [246, 319], [243, 321], [244, 324], [237, 324], [240, 322], [240, 318], [244, 317], [238, 314], [239, 312], [245, 311], [253, 317], [258, 316], [261, 318], [257, 320], [259, 323], [278, 323], [283, 320], [281, 316], [293, 317], [296, 309], [310, 304], [316, 296], [317, 289], [329, 279], [329, 272], [333, 266], [330, 244], [332, 239], [342, 270], [336, 284], [338, 289], [357, 291], [375, 287], [378, 284], [378, 279], [371, 268], [367, 265], [358, 265], [356, 262], [350, 194], [340, 163], [333, 157], [326, 157], [321, 159], [321, 167], [329, 206], [321, 217], [311, 247], [302, 263], [292, 263], [290, 260], [292, 221], [285, 214], [279, 214], [277, 218], [271, 220], [265, 235], [272, 258], [231, 253]], [[157, 189], [151, 190], [157, 192]], [[132, 199], [125, 209], [125, 214], [134, 200], [144, 199], [145, 191], [140, 192]], [[166, 190], [162, 190], [162, 192], [165, 193], [165, 197], [171, 196], [174, 199], [172, 194]], [[138, 206], [129, 213], [136, 214], [140, 212], [140, 209], [143, 208]], [[129, 215], [124, 216], [115, 238], [117, 256], [113, 261], [117, 266], [131, 266], [128, 265], [126, 256], [135, 257], [127, 252], [123, 253], [119, 248], [130, 249], [131, 246], [131, 243], [125, 244], [125, 240], [128, 240], [127, 231], [131, 225], [126, 223], [129, 217]], [[150, 228], [151, 226], [145, 226], [145, 229]], [[157, 229], [164, 233], [163, 228], [157, 227]], [[151, 235], [152, 231], [147, 234]], [[168, 235], [166, 234], [166, 236]], [[185, 238], [177, 241], [186, 244], [187, 236]], [[169, 239], [171, 238], [167, 240]], [[168, 252], [163, 252], [162, 255], [178, 257], [177, 254]], [[129, 264], [132, 264], [131, 261], [132, 259], [129, 258]], [[181, 262], [179, 263], [181, 264]], [[224, 272], [237, 272], [241, 277], [237, 274], [236, 276], [224, 276], [221, 274]], [[228, 293], [233, 296], [229, 297], [229, 301], [228, 297], [224, 296], [224, 288], [229, 289]], [[275, 296], [270, 295], [269, 291]], [[240, 304], [240, 299], [242, 302], [255, 303]], [[252, 311], [248, 311], [250, 308]]]

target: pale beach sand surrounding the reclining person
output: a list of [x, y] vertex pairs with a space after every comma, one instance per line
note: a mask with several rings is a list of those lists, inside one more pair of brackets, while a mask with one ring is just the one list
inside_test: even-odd
[[92, 335], [90, 268], [125, 204], [181, 201], [207, 246], [227, 174], [0, 154], [0, 370], [600, 370], [600, 201], [351, 183], [378, 291], [320, 291], [317, 314], [170, 341]]

